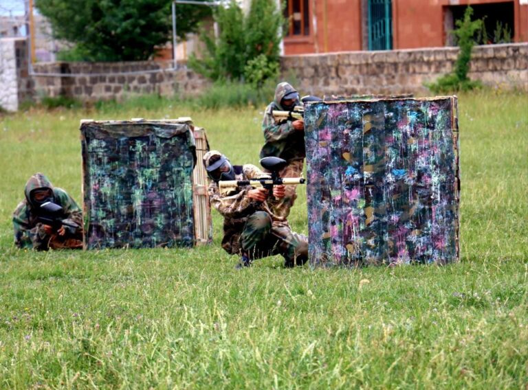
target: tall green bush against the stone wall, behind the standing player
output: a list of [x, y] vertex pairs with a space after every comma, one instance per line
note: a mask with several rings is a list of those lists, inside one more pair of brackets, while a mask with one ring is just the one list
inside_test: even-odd
[[248, 80], [261, 85], [278, 73], [281, 27], [285, 23], [274, 0], [252, 0], [244, 15], [232, 0], [214, 12], [219, 36], [203, 32], [205, 50], [189, 65], [212, 80]]

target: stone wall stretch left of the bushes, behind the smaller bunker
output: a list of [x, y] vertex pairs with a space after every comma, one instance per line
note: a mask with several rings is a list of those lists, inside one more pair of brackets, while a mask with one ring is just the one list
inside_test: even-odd
[[50, 62], [34, 65], [34, 73], [38, 95], [85, 102], [146, 93], [195, 95], [210, 84], [187, 69], [170, 69], [170, 62]]

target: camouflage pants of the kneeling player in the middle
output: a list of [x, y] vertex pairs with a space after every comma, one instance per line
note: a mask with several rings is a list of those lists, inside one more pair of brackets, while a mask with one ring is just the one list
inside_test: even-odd
[[242, 250], [251, 260], [283, 255], [285, 266], [302, 265], [308, 258], [308, 240], [287, 226], [274, 226], [265, 211], [248, 218], [240, 238]]

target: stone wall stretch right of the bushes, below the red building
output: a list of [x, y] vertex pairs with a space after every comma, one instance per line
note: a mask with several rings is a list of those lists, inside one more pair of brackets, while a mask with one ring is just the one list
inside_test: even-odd
[[[452, 71], [458, 53], [456, 47], [439, 47], [310, 54], [285, 56], [281, 67], [285, 75], [296, 75], [303, 94], [430, 95], [423, 83]], [[492, 87], [528, 91], [528, 43], [474, 47], [469, 76]]]

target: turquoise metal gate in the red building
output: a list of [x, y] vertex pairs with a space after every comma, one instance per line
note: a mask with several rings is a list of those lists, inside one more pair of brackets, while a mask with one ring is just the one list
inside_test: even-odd
[[369, 50], [393, 48], [392, 0], [369, 0]]

